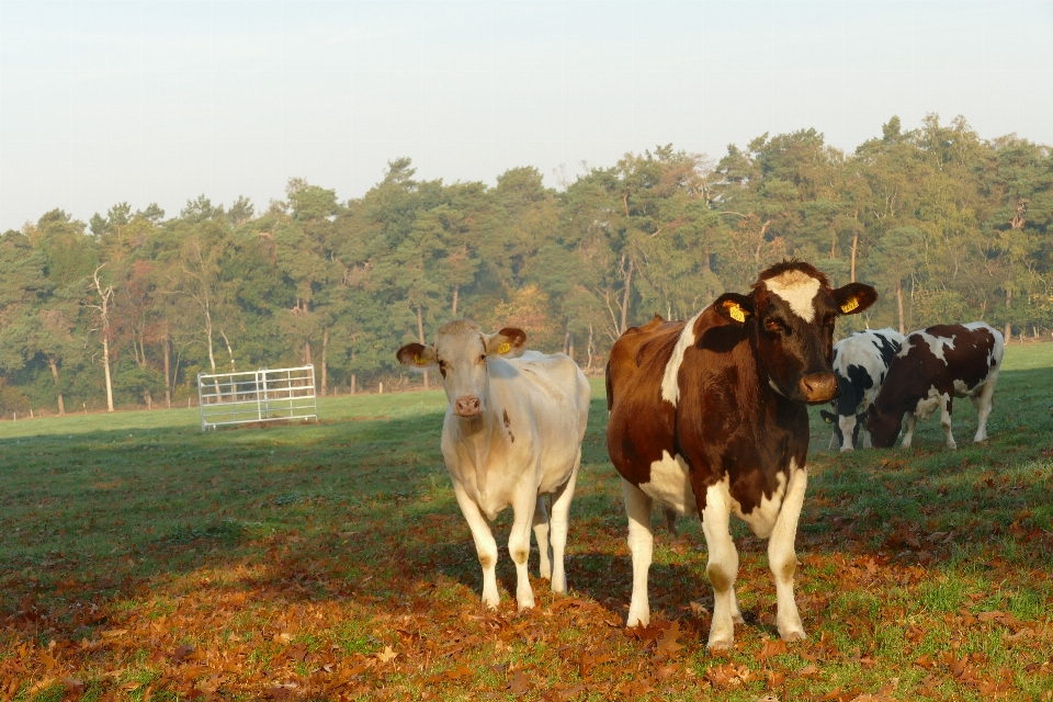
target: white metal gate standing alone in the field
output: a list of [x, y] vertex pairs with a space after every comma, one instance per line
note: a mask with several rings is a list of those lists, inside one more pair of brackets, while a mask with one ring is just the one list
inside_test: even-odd
[[258, 421], [318, 419], [315, 366], [197, 374], [201, 429]]

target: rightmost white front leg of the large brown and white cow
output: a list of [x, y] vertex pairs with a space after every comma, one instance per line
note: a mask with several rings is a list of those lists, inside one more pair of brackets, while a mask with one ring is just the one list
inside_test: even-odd
[[775, 526], [768, 537], [768, 566], [775, 579], [775, 599], [779, 604], [775, 623], [783, 641], [805, 638], [797, 603], [793, 598], [793, 573], [797, 567], [797, 555], [793, 542], [797, 534], [797, 518], [804, 505], [804, 491], [808, 485], [808, 473], [804, 468], [795, 469], [791, 463], [790, 484], [782, 508], [775, 519]]

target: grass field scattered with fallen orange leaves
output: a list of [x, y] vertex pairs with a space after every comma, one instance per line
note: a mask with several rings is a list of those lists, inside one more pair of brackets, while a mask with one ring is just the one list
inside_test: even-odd
[[995, 403], [980, 446], [955, 403], [956, 452], [932, 419], [909, 451], [840, 456], [816, 412], [797, 536], [809, 637], [778, 641], [765, 544], [737, 524], [747, 623], [721, 656], [698, 519], [656, 530], [656, 623], [623, 627], [600, 381], [571, 592], [534, 580], [523, 614], [505, 551], [502, 605], [480, 609], [441, 392], [205, 434], [196, 409], [0, 422], [0, 700], [1050, 700], [1053, 344], [1010, 347]]

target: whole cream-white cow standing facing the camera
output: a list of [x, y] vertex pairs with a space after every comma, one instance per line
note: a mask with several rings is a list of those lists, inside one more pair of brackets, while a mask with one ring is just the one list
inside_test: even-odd
[[[456, 319], [439, 328], [434, 343], [410, 343], [397, 352], [403, 365], [442, 374], [450, 400], [442, 456], [483, 566], [483, 603], [491, 608], [500, 598], [489, 521], [512, 507], [508, 552], [521, 610], [534, 605], [526, 577], [532, 525], [541, 577], [552, 579], [554, 592], [567, 591], [567, 519], [592, 395], [574, 361], [562, 353], [524, 352], [525, 341], [520, 329], [486, 335], [475, 322]], [[551, 539], [544, 495], [552, 495]]]

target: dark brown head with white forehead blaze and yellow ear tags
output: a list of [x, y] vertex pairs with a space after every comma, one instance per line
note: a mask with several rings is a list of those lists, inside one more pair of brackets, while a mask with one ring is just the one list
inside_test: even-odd
[[835, 320], [858, 315], [876, 299], [870, 285], [849, 283], [834, 290], [811, 264], [783, 261], [761, 273], [749, 295], [725, 293], [713, 307], [727, 321], [750, 327], [760, 370], [772, 389], [814, 405], [838, 393]]

